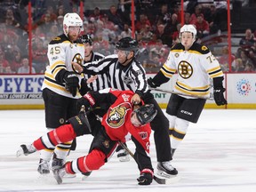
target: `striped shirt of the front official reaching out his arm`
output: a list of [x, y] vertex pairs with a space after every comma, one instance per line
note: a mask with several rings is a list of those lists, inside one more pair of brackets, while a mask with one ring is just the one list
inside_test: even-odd
[[148, 91], [146, 72], [139, 61], [132, 60], [127, 66], [118, 62], [116, 54], [108, 55], [103, 60], [87, 63], [84, 73], [106, 74], [111, 88], [132, 90], [141, 96]]

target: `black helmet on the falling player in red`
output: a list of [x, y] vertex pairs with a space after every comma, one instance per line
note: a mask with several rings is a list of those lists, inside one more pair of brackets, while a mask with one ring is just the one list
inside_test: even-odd
[[136, 113], [140, 124], [148, 124], [155, 118], [157, 110], [153, 104], [145, 104], [134, 110], [134, 113]]

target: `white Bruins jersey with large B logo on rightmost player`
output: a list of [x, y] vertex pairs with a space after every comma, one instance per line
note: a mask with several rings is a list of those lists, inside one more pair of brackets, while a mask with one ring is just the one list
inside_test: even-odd
[[171, 78], [177, 72], [174, 91], [198, 96], [209, 96], [210, 78], [223, 76], [219, 61], [205, 45], [194, 43], [188, 51], [175, 44], [160, 71]]

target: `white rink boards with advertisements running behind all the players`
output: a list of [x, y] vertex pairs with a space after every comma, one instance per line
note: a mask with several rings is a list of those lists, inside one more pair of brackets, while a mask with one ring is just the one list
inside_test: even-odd
[[[148, 74], [155, 76], [155, 74]], [[205, 108], [256, 108], [256, 74], [226, 74], [224, 85], [228, 105], [218, 107], [207, 100]], [[176, 76], [160, 88], [173, 90]], [[0, 76], [0, 109], [44, 108], [41, 86], [44, 75]], [[166, 108], [171, 93], [152, 91], [161, 108]]]

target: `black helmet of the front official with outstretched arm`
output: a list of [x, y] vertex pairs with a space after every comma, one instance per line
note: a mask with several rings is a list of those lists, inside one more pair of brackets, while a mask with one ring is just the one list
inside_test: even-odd
[[133, 51], [136, 53], [139, 50], [139, 44], [135, 39], [127, 36], [120, 39], [116, 43], [116, 49], [123, 51]]

